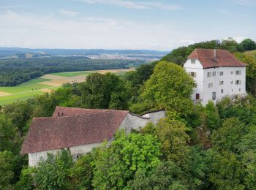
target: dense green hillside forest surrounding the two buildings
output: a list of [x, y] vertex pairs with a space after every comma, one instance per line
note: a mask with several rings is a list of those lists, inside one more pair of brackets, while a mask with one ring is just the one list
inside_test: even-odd
[[[0, 189], [256, 189], [256, 55], [235, 55], [247, 64], [248, 95], [216, 105], [193, 104], [192, 77], [179, 63], [159, 61], [124, 76], [94, 73], [83, 83], [1, 107]], [[19, 151], [31, 119], [52, 115], [57, 105], [137, 114], [165, 109], [167, 118], [117, 132], [110, 145], [78, 161], [62, 151], [28, 167]]]

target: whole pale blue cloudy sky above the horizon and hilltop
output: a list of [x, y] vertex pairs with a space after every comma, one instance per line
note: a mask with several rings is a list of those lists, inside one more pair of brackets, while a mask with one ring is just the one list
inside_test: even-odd
[[256, 0], [0, 0], [0, 47], [172, 50], [256, 41]]

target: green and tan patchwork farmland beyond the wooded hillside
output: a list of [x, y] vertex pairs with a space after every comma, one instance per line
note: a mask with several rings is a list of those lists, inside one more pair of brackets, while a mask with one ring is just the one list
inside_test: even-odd
[[113, 70], [98, 70], [98, 71], [84, 71], [84, 72], [58, 72], [36, 79], [29, 80], [18, 86], [0, 87], [0, 105], [10, 104], [17, 100], [23, 101], [38, 94], [56, 90], [64, 83], [80, 83], [86, 80], [86, 76], [93, 72], [106, 73], [112, 72], [117, 75], [124, 75], [132, 69], [113, 69]]

